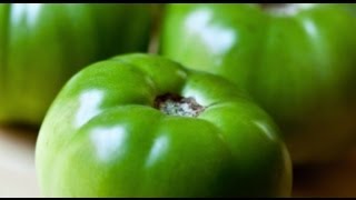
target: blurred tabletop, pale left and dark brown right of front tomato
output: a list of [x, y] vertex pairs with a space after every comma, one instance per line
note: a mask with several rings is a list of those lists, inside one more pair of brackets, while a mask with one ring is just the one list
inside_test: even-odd
[[[34, 169], [34, 131], [0, 128], [0, 197], [41, 197]], [[298, 170], [294, 197], [356, 197], [356, 148], [344, 160]]]

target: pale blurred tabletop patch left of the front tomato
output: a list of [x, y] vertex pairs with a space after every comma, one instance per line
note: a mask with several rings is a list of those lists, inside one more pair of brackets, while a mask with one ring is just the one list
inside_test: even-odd
[[34, 170], [37, 132], [0, 128], [0, 197], [40, 197]]

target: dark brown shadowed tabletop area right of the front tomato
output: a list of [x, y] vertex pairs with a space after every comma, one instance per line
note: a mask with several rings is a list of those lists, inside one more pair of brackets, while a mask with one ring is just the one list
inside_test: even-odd
[[356, 197], [355, 169], [356, 148], [333, 163], [296, 167], [293, 197]]

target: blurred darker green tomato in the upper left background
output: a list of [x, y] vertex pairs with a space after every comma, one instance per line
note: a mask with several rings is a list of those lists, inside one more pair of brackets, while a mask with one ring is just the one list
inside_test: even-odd
[[0, 4], [0, 123], [40, 126], [68, 79], [83, 66], [146, 52], [148, 4]]

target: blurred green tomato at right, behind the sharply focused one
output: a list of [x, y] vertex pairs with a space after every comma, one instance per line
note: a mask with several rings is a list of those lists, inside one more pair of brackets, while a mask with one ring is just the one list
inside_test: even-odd
[[326, 162], [355, 142], [355, 13], [342, 4], [289, 14], [258, 4], [169, 4], [160, 53], [247, 91], [280, 127], [294, 163]]

